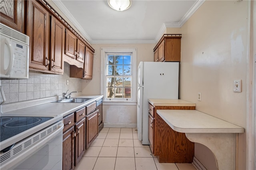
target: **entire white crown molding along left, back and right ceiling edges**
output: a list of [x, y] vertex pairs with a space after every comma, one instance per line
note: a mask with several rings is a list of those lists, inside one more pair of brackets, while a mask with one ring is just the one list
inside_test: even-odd
[[166, 22], [160, 28], [156, 38], [154, 40], [92, 40], [90, 36], [85, 32], [84, 28], [76, 21], [76, 19], [72, 16], [72, 14], [68, 11], [68, 9], [62, 4], [60, 0], [52, 0], [56, 6], [66, 15], [66, 17], [72, 22], [72, 24], [81, 32], [81, 34], [88, 40], [89, 43], [92, 44], [100, 44], [100, 43], [157, 43], [158, 40], [164, 34], [166, 28], [181, 28], [185, 22], [196, 12], [196, 10], [204, 3], [205, 0], [198, 0], [195, 4], [190, 8], [190, 10], [183, 16], [183, 18], [178, 23]]

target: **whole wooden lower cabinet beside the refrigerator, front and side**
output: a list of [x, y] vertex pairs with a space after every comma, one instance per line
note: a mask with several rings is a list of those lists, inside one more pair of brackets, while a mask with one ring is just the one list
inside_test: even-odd
[[156, 113], [158, 109], [194, 110], [195, 106], [155, 106], [148, 104], [148, 140], [150, 149], [160, 163], [191, 163], [194, 142], [185, 133], [172, 128]]

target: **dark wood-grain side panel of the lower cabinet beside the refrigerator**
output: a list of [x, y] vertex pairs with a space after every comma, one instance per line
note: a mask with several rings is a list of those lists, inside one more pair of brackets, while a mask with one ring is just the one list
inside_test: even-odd
[[192, 163], [194, 142], [172, 128], [156, 113], [154, 154], [160, 163]]

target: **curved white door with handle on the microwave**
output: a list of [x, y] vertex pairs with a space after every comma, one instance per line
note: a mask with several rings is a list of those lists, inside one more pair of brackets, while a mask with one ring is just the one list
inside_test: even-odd
[[10, 72], [14, 64], [14, 51], [10, 38], [1, 35], [1, 75], [0, 77], [10, 77]]

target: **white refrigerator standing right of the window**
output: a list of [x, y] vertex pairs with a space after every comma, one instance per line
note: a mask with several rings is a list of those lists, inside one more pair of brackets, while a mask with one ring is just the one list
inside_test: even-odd
[[138, 66], [137, 130], [148, 141], [148, 99], [178, 99], [179, 62], [140, 62]]

